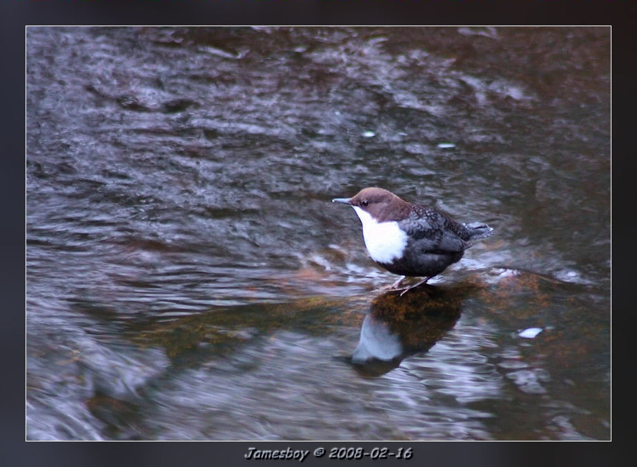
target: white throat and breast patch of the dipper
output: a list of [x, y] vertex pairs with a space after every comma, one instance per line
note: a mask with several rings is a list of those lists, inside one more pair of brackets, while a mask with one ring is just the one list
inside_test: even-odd
[[352, 206], [363, 225], [363, 239], [371, 259], [378, 263], [391, 263], [402, 256], [407, 244], [406, 233], [398, 222], [377, 222], [369, 212]]

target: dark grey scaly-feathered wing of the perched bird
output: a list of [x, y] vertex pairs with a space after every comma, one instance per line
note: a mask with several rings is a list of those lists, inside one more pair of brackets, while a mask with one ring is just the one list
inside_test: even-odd
[[423, 252], [460, 252], [471, 246], [462, 239], [463, 226], [431, 208], [415, 205], [399, 224]]

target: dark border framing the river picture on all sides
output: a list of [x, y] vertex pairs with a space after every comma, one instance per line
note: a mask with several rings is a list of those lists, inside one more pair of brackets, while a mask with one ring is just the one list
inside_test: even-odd
[[[615, 248], [624, 251], [628, 235], [634, 236], [634, 208], [624, 206], [634, 195], [625, 188], [625, 177], [631, 176], [634, 143], [623, 135], [634, 126], [635, 75], [632, 62], [636, 56], [636, 7], [630, 2], [613, 1], [210, 1], [210, 2], [70, 2], [70, 1], [7, 1], [0, 5], [0, 48], [2, 74], [3, 151], [0, 158], [0, 184], [5, 219], [0, 230], [3, 245], [1, 287], [7, 297], [3, 307], [3, 326], [0, 351], [12, 366], [6, 366], [2, 385], [2, 421], [0, 458], [6, 465], [79, 466], [107, 465], [117, 462], [126, 465], [189, 465], [242, 464], [248, 446], [257, 448], [310, 449], [323, 446], [374, 445], [353, 441], [344, 443], [154, 443], [154, 444], [96, 444], [96, 443], [26, 443], [24, 440], [24, 27], [26, 25], [132, 25], [132, 24], [413, 24], [413, 25], [612, 25], [613, 90], [615, 99], [614, 170], [615, 201], [620, 215], [616, 215]], [[633, 130], [634, 131], [634, 130]], [[622, 170], [625, 168], [626, 170]], [[621, 213], [625, 212], [625, 215]], [[627, 248], [626, 255], [631, 256]], [[630, 274], [619, 265], [614, 294], [614, 317], [623, 321], [621, 290]], [[617, 293], [619, 291], [619, 293]], [[17, 312], [17, 310], [22, 310]], [[616, 321], [616, 322], [620, 322]], [[625, 328], [620, 324], [619, 328]], [[616, 333], [615, 343], [623, 342]], [[616, 347], [618, 347], [616, 345]], [[616, 355], [621, 355], [621, 352]], [[615, 384], [621, 387], [621, 384]], [[616, 399], [617, 401], [618, 399]], [[617, 402], [616, 402], [617, 403]], [[620, 401], [620, 404], [622, 402]], [[619, 440], [623, 438], [616, 438]], [[609, 461], [610, 444], [602, 443], [433, 443], [415, 444], [411, 461], [419, 465], [463, 464], [478, 466], [531, 465], [538, 462], [569, 465], [599, 465]], [[309, 456], [304, 464], [319, 465], [329, 459]], [[268, 461], [272, 464], [276, 461]], [[398, 462], [398, 461], [397, 461]]]

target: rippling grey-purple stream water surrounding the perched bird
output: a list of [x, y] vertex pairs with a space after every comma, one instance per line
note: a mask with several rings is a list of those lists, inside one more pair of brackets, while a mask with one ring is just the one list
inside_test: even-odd
[[[609, 28], [26, 45], [28, 439], [610, 438]], [[381, 292], [365, 186], [496, 233]]]

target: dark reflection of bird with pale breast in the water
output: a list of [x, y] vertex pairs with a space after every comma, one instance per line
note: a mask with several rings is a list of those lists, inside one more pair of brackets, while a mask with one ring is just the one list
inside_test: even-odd
[[455, 325], [462, 299], [475, 286], [424, 286], [400, 296], [385, 292], [373, 299], [360, 329], [360, 340], [349, 363], [366, 377], [397, 368], [418, 352], [427, 352]]

